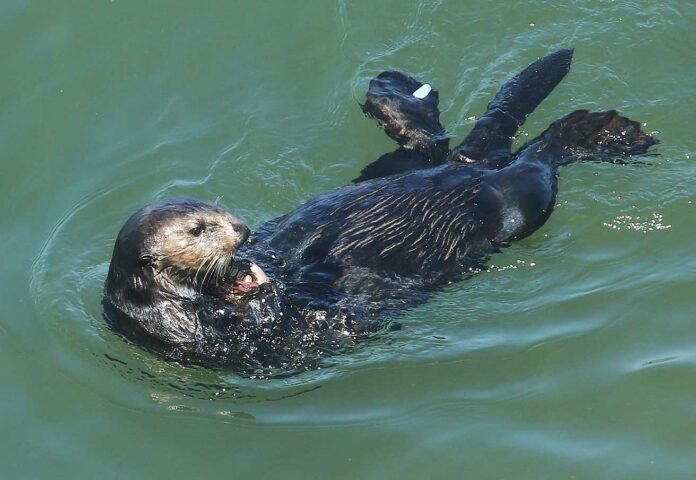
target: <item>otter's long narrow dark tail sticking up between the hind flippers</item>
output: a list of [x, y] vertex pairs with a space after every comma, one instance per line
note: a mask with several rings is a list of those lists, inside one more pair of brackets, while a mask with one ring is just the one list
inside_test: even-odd
[[510, 163], [512, 138], [517, 129], [563, 80], [572, 59], [572, 49], [559, 50], [537, 60], [510, 79], [448, 160], [492, 168]]

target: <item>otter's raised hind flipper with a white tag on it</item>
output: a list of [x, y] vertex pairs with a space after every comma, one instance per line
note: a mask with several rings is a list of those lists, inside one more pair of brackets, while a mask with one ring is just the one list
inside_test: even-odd
[[449, 137], [440, 124], [438, 93], [430, 85], [401, 72], [387, 71], [370, 82], [366, 96], [363, 112], [377, 120], [400, 147], [365, 167], [354, 182], [444, 161], [449, 153]]

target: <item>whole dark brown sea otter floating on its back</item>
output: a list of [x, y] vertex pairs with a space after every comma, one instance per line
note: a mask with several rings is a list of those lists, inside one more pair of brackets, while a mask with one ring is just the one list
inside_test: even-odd
[[249, 242], [243, 222], [215, 205], [145, 207], [116, 239], [107, 319], [168, 358], [242, 373], [311, 368], [384, 328], [543, 225], [561, 165], [623, 162], [657, 142], [615, 111], [579, 110], [511, 152], [572, 53], [553, 53], [506, 83], [453, 150], [437, 92], [382, 73], [363, 110], [399, 148], [354, 184], [262, 225]]

